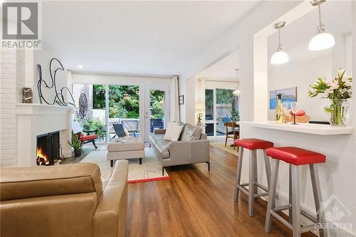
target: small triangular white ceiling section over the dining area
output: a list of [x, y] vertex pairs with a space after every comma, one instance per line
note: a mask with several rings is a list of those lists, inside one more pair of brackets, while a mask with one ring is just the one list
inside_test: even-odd
[[225, 58], [214, 63], [206, 70], [202, 71], [197, 78], [205, 78], [206, 80], [236, 80], [236, 68], [239, 68], [239, 50], [230, 53]]

